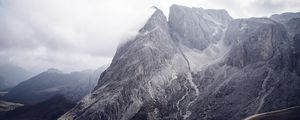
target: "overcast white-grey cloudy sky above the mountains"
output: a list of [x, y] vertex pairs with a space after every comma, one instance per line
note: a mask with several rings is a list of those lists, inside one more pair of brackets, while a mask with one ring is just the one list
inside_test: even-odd
[[234, 18], [300, 11], [299, 0], [0, 0], [0, 63], [41, 72], [96, 69], [153, 13], [172, 4], [226, 9]]

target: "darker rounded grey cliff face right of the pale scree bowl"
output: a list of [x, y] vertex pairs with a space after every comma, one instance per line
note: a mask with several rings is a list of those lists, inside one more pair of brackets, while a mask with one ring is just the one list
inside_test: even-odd
[[[231, 24], [225, 37], [232, 48], [227, 56], [228, 65], [244, 67], [291, 52], [281, 24], [265, 18], [234, 20]], [[282, 57], [283, 61], [290, 61], [288, 58]]]

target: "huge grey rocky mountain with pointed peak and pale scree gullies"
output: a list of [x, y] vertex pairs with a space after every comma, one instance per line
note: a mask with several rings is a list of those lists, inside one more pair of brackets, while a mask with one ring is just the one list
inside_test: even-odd
[[179, 5], [167, 20], [156, 9], [92, 93], [59, 119], [240, 120], [299, 106], [299, 37], [286, 26]]

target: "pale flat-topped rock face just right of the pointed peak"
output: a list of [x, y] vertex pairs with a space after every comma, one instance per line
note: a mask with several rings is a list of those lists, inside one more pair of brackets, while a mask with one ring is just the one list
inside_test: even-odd
[[169, 24], [172, 37], [190, 48], [204, 50], [221, 39], [232, 17], [225, 10], [205, 10], [173, 5]]

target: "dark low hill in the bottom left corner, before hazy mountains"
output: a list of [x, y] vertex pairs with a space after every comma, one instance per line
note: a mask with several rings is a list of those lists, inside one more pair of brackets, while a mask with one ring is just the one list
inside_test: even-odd
[[56, 120], [74, 105], [75, 103], [64, 96], [57, 95], [36, 105], [0, 112], [0, 118], [3, 120]]

